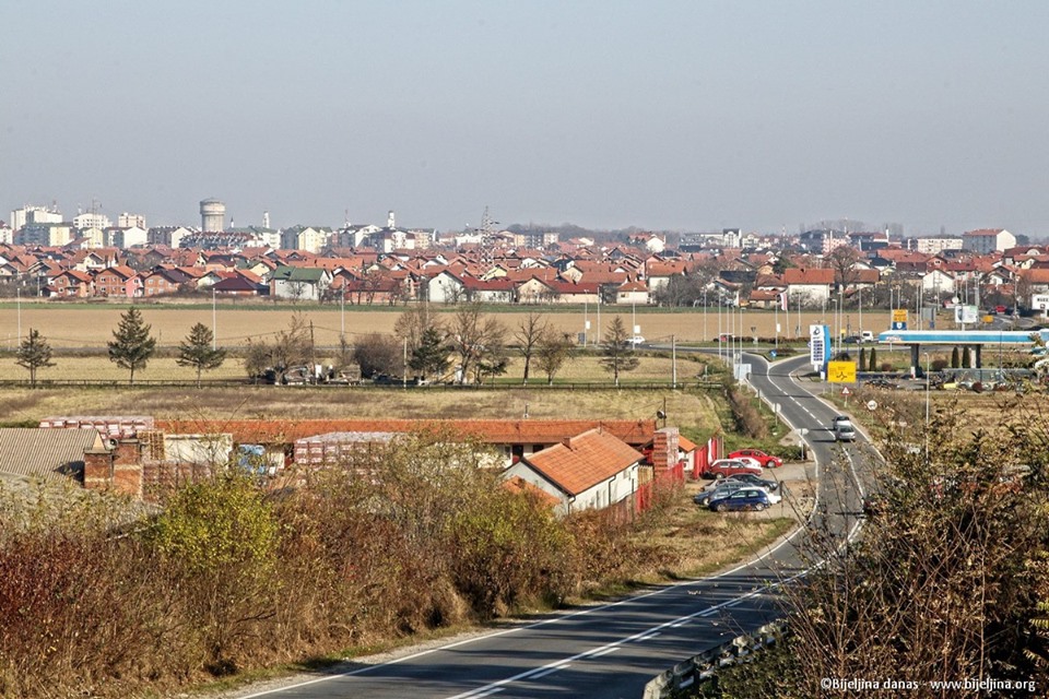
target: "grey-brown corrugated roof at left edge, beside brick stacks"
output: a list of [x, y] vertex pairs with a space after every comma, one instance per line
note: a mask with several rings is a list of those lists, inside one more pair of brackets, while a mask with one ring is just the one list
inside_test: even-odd
[[83, 471], [84, 451], [102, 448], [94, 429], [0, 428], [0, 473], [61, 478]]

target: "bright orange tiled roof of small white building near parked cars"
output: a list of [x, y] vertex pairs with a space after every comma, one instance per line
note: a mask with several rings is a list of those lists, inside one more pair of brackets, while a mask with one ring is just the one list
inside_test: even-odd
[[523, 461], [568, 495], [578, 495], [641, 459], [644, 455], [622, 439], [596, 428]]

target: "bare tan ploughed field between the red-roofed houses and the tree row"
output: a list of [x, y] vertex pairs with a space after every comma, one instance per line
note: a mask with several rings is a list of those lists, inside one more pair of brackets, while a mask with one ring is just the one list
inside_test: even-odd
[[[161, 345], [176, 346], [189, 332], [193, 323], [204, 323], [212, 327], [211, 304], [139, 304], [148, 323], [153, 325], [153, 334]], [[113, 330], [117, 327], [120, 313], [127, 306], [118, 304], [66, 304], [54, 301], [23, 301], [21, 304], [22, 333], [30, 328], [39, 330], [54, 347], [83, 347], [104, 350], [106, 342], [113, 339]], [[436, 313], [452, 313], [453, 308], [448, 306], [431, 307]], [[507, 328], [516, 329], [529, 311], [541, 312], [557, 330], [580, 333], [585, 328], [585, 318], [590, 321], [589, 341], [599, 340], [609, 328], [613, 316], [623, 319], [627, 329], [630, 328], [634, 315], [629, 307], [602, 306], [600, 317], [597, 309], [591, 307], [552, 308], [552, 307], [516, 307], [512, 310], [499, 308], [492, 315], [498, 317]], [[392, 333], [403, 308], [347, 306], [345, 312], [338, 306], [272, 304], [264, 301], [224, 301], [220, 303], [215, 311], [215, 334], [223, 346], [239, 346], [254, 337], [270, 337], [274, 333], [287, 328], [292, 313], [299, 311], [307, 321], [313, 321], [315, 340], [318, 345], [335, 346], [339, 334], [345, 327], [351, 343], [353, 339], [363, 334], [379, 332]], [[789, 317], [788, 317], [789, 316]], [[780, 336], [792, 335], [808, 339], [809, 324], [832, 319], [820, 312], [803, 312], [800, 316], [792, 311], [789, 315], [778, 315], [781, 327]], [[698, 343], [717, 340], [721, 332], [735, 331], [736, 335], [752, 337], [773, 337], [776, 334], [777, 313], [774, 311], [749, 311], [738, 313], [730, 325], [728, 313], [720, 316], [716, 308], [706, 312], [702, 308], [655, 309], [638, 308], [636, 313], [640, 334], [649, 342], [670, 343], [671, 335], [677, 342]], [[888, 311], [867, 311], [863, 313], [865, 329], [881, 330], [888, 327]], [[853, 331], [860, 329], [857, 313], [846, 313], [845, 323]], [[0, 304], [0, 342], [2, 347], [16, 346], [19, 328], [19, 307], [10, 301]], [[754, 330], [752, 330], [752, 328]]]

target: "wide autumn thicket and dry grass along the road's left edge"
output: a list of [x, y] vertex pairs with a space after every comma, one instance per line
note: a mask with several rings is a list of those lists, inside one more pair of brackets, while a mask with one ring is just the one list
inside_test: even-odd
[[697, 574], [785, 520], [702, 511], [567, 519], [417, 434], [263, 490], [236, 470], [156, 510], [82, 490], [0, 497], [0, 696], [154, 696], [264, 666]]

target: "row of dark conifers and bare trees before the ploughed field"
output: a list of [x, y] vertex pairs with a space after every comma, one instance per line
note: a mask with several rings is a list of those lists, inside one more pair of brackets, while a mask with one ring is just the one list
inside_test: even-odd
[[[127, 369], [133, 384], [135, 374], [145, 370], [156, 354], [156, 337], [139, 309], [129, 308], [120, 316], [107, 350], [109, 360]], [[398, 318], [393, 335], [368, 333], [353, 346], [343, 335], [335, 362], [340, 367], [356, 364], [365, 378], [484, 383], [505, 375], [516, 355], [522, 363], [522, 383], [528, 384], [537, 372], [553, 383], [576, 352], [571, 335], [554, 330], [540, 313], [530, 312], [511, 330], [485, 315], [480, 305], [471, 304], [450, 317], [432, 313], [425, 306], [411, 308]], [[601, 366], [616, 384], [621, 374], [638, 366], [632, 336], [618, 317], [601, 339], [599, 352]], [[179, 344], [176, 362], [196, 370], [199, 387], [202, 374], [221, 367], [226, 357], [227, 351], [216, 346], [212, 330], [196, 323]], [[47, 339], [31, 328], [15, 353], [16, 364], [30, 372], [31, 386], [36, 387], [40, 369], [55, 366], [54, 359]], [[270, 372], [278, 383], [296, 368], [315, 365], [313, 327], [302, 313], [294, 313], [288, 327], [271, 340], [249, 341], [244, 357], [249, 377]], [[308, 375], [313, 377], [314, 371]]]

